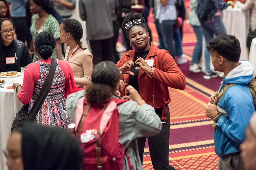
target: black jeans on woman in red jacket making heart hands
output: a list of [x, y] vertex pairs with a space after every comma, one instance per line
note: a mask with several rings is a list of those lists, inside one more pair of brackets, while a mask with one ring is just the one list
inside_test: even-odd
[[[169, 139], [170, 139], [170, 110], [166, 105], [166, 123], [163, 123], [162, 130], [155, 136], [148, 137], [148, 146], [152, 165], [154, 169], [175, 169], [169, 164]], [[157, 110], [157, 109], [155, 109]], [[162, 110], [156, 111], [156, 114], [162, 117]], [[138, 138], [138, 148], [141, 163], [143, 162], [143, 152], [146, 137]]]

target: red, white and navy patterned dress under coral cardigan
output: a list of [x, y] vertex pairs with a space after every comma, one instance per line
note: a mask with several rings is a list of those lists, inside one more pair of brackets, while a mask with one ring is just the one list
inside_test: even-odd
[[[34, 86], [34, 91], [32, 98], [29, 102], [29, 112], [39, 94], [43, 83], [45, 82], [48, 73], [50, 71], [51, 63], [45, 63], [41, 61], [36, 61], [40, 65], [40, 72], [38, 82]], [[58, 60], [57, 60], [58, 62]], [[64, 98], [64, 88], [66, 84], [66, 77], [61, 69], [60, 65], [57, 63], [54, 79], [48, 95], [43, 102], [41, 109], [39, 110], [35, 123], [46, 125], [46, 126], [58, 126], [64, 130], [68, 130], [67, 125], [72, 123], [72, 119], [66, 110], [66, 99]]]

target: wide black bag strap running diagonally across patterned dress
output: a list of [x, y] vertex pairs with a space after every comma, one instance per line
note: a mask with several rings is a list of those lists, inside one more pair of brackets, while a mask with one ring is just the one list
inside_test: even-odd
[[56, 59], [51, 59], [51, 67], [50, 71], [48, 73], [48, 76], [45, 80], [45, 83], [43, 83], [43, 87], [41, 88], [39, 94], [37, 95], [37, 98], [34, 102], [34, 105], [32, 106], [30, 113], [29, 113], [29, 118], [30, 120], [34, 120], [38, 111], [42, 107], [43, 102], [45, 101], [45, 98], [51, 88], [52, 81], [55, 75], [55, 70], [57, 66], [57, 60]]

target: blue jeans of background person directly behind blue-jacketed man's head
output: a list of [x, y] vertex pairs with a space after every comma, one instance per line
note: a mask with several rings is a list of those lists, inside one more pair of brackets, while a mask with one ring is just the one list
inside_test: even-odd
[[213, 38], [213, 34], [216, 34], [217, 36], [222, 36], [227, 34], [225, 26], [222, 22], [222, 19], [220, 16], [213, 16], [211, 22], [208, 21], [201, 21], [201, 26], [203, 28], [203, 34], [205, 36], [205, 66], [206, 71], [211, 71], [210, 69], [210, 57], [211, 54], [207, 50], [207, 46], [209, 44], [209, 40]]

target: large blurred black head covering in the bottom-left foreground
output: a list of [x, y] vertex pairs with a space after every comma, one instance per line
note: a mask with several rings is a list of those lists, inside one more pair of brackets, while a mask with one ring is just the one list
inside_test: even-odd
[[29, 123], [21, 134], [24, 169], [81, 169], [79, 142], [63, 129]]

